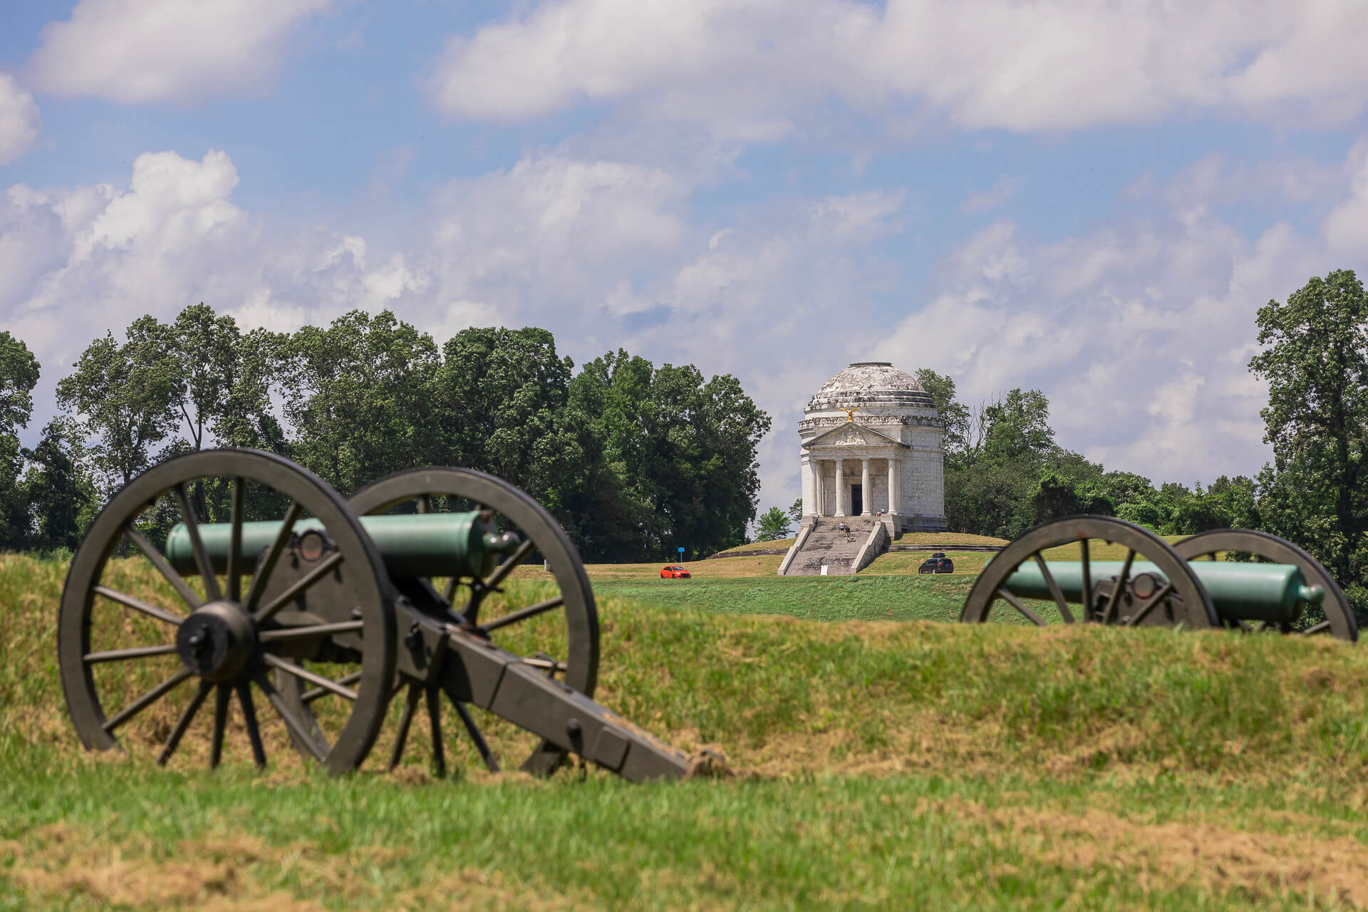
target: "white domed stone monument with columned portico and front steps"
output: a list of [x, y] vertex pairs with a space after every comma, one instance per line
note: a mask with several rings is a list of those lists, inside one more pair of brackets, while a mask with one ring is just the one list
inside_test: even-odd
[[798, 433], [803, 520], [781, 576], [856, 573], [903, 532], [948, 528], [944, 424], [911, 375], [851, 364], [813, 394]]

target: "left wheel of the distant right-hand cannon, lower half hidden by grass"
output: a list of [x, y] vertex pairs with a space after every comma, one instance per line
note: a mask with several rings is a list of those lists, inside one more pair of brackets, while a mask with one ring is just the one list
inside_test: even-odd
[[[1066, 544], [1077, 544], [1078, 559], [1083, 565], [1083, 588], [1090, 591], [1092, 574], [1089, 573], [1090, 561], [1088, 547], [1090, 539], [1101, 539], [1103, 541], [1126, 547], [1127, 556], [1120, 574], [1122, 585], [1116, 587], [1112, 599], [1097, 611], [1083, 604], [1078, 606], [1078, 617], [1075, 617], [1074, 610], [1070, 608], [1068, 602], [1066, 602], [1049, 573], [1044, 551]], [[1119, 618], [1115, 610], [1118, 607], [1115, 604], [1116, 595], [1124, 587], [1130, 566], [1135, 558], [1155, 563], [1168, 578], [1168, 584], [1137, 606], [1130, 617]], [[1085, 621], [1133, 626], [1144, 622], [1152, 614], [1153, 608], [1171, 595], [1182, 600], [1179, 610], [1182, 623], [1189, 628], [1213, 628], [1219, 623], [1216, 608], [1212, 606], [1207, 589], [1202, 588], [1201, 581], [1187, 567], [1186, 561], [1178, 556], [1167, 541], [1149, 529], [1114, 517], [1099, 515], [1064, 517], [1063, 520], [1042, 522], [1021, 535], [1015, 541], [996, 554], [988, 562], [988, 566], [984, 567], [978, 580], [974, 581], [974, 588], [970, 589], [969, 598], [964, 599], [964, 608], [960, 611], [959, 619], [970, 623], [982, 623], [993, 619], [995, 611], [1000, 613], [1000, 615], [1015, 613], [1037, 626], [1047, 626], [1049, 623], [1047, 618], [1033, 611], [1005, 588], [1008, 577], [1027, 561], [1034, 561], [1040, 566], [1047, 585], [1053, 592], [1055, 606], [1059, 610], [1059, 618], [1063, 623]], [[1175, 607], [1179, 606], [1175, 604]]]

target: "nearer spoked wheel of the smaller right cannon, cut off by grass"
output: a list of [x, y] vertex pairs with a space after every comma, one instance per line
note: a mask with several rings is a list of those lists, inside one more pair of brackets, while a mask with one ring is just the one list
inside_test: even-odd
[[[1093, 572], [1096, 558], [1089, 541], [1101, 540], [1126, 548], [1124, 561], [1115, 581], [1097, 578]], [[1082, 584], [1073, 598], [1066, 598], [1052, 576], [1045, 551], [1073, 546], [1077, 558], [1064, 552], [1056, 561], [1079, 562]], [[1133, 574], [1135, 561], [1148, 561], [1166, 581], [1145, 574]], [[1007, 581], [1022, 565], [1033, 562], [1051, 599], [1029, 600], [1007, 589]], [[1053, 604], [1051, 604], [1051, 602]], [[984, 623], [988, 621], [1029, 622], [1037, 626], [1051, 623], [1115, 623], [1119, 626], [1174, 626], [1212, 628], [1219, 623], [1211, 598], [1186, 561], [1149, 529], [1114, 517], [1078, 515], [1044, 522], [1025, 532], [988, 562], [974, 581], [960, 621]]]

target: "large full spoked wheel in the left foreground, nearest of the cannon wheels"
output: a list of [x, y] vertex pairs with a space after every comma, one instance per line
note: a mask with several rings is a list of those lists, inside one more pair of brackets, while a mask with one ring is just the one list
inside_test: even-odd
[[[215, 576], [200, 543], [198, 526], [205, 517], [197, 515], [197, 507], [192, 506], [192, 502], [204, 503], [202, 483], [224, 492], [227, 505], [220, 507], [237, 529], [233, 540], [238, 544], [222, 578]], [[248, 511], [245, 502], [261, 495], [287, 500], [289, 509], [282, 535], [253, 567], [248, 558], [256, 555], [241, 552], [241, 524]], [[282, 566], [280, 558], [290, 548], [290, 529], [305, 513], [319, 520], [335, 543], [337, 550], [327, 565], [346, 573], [356, 596], [353, 603], [339, 607], [342, 617], [316, 618], [317, 632], [311, 632], [311, 626], [280, 628], [274, 618], [286, 607], [286, 600], [263, 599], [271, 574]], [[176, 573], [164, 552], [140, 531], [140, 517], [156, 520], [159, 515], [179, 518], [187, 526], [200, 569], [196, 585]], [[148, 599], [157, 600], [157, 596], [146, 592], [115, 588], [119, 580], [127, 580], [130, 570], [123, 562], [111, 565], [118, 550], [141, 552], [174, 591], [171, 600], [176, 607], [152, 604]], [[244, 577], [249, 580], [246, 588]], [[134, 584], [138, 581], [122, 582], [126, 589]], [[313, 641], [321, 645], [321, 637], [341, 633], [361, 644], [353, 662], [357, 667], [353, 686], [339, 688], [350, 700], [350, 711], [338, 714], [331, 737], [313, 737], [308, 744], [312, 756], [331, 773], [353, 770], [375, 742], [390, 700], [393, 598], [380, 555], [356, 513], [308, 470], [259, 450], [205, 450], [168, 459], [114, 495], [73, 556], [62, 591], [57, 665], [77, 734], [86, 748], [97, 751], [120, 747], [120, 732], [131, 741], [160, 744], [157, 762], [164, 764], [213, 695], [213, 725], [208, 734], [212, 768], [222, 757], [227, 715], [235, 696], [253, 759], [264, 766], [265, 748], [252, 685], [265, 695], [291, 738], [298, 740], [309, 721], [291, 711], [267, 673], [274, 669], [297, 674], [301, 669], [276, 655], [285, 644], [298, 647]], [[356, 652], [352, 649], [353, 655]], [[148, 686], [153, 682], [155, 686]], [[194, 689], [185, 699], [182, 685], [187, 682]], [[107, 712], [111, 708], [114, 715]]]

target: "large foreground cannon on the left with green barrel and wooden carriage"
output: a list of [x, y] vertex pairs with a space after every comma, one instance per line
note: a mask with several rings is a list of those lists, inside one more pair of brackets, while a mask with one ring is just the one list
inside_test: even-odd
[[[152, 528], [167, 531], [163, 547]], [[137, 581], [111, 561], [124, 552], [150, 563], [176, 607], [129, 591]], [[546, 582], [513, 585], [534, 555]], [[168, 459], [105, 505], [73, 556], [57, 659], [81, 742], [131, 738], [163, 764], [196, 732], [216, 767], [235, 699], [264, 766], [259, 696], [293, 748], [335, 774], [360, 768], [382, 734], [397, 766], [424, 703], [445, 774], [443, 700], [491, 771], [502, 760], [479, 714], [524, 733], [520, 768], [536, 775], [570, 755], [633, 781], [717, 760], [594, 701], [599, 625], [573, 544], [535, 499], [466, 469], [399, 472], [347, 500], [271, 453]], [[200, 715], [211, 696], [212, 721]]]

